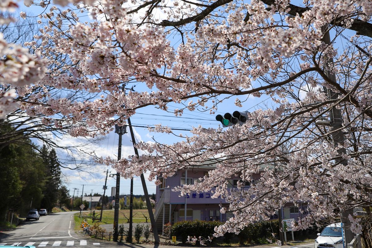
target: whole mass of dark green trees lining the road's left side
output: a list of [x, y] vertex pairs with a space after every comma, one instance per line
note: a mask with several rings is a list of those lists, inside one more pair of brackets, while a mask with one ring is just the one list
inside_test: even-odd
[[[57, 154], [22, 137], [1, 136], [13, 126], [0, 122], [0, 221], [8, 212], [24, 216], [29, 209], [51, 209], [70, 204], [69, 191], [61, 183]], [[13, 142], [13, 139], [17, 142]]]

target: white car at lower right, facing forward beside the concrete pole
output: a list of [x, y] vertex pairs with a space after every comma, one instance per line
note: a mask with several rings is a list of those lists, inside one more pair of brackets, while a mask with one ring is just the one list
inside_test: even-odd
[[315, 239], [315, 248], [343, 248], [341, 223], [326, 226]]

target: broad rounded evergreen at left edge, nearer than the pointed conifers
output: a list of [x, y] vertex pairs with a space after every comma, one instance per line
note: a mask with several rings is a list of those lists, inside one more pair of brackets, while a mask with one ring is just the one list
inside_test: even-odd
[[[13, 127], [0, 122], [0, 133], [9, 129]], [[12, 136], [0, 139], [0, 220], [8, 211], [24, 216], [31, 203], [31, 207], [39, 208], [45, 186], [44, 163], [34, 148], [36, 145], [25, 136], [17, 139], [19, 142], [11, 139]]]

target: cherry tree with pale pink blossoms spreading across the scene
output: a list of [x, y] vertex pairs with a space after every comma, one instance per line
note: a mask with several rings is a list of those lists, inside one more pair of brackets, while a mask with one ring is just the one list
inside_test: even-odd
[[[124, 177], [150, 171], [150, 180], [217, 161], [200, 183], [178, 189], [207, 191], [218, 185], [213, 197], [224, 198], [229, 204], [221, 212], [234, 217], [216, 229], [216, 236], [267, 219], [286, 202], [305, 202], [310, 213], [294, 229], [339, 219], [340, 211], [362, 206], [367, 215], [347, 216], [347, 229], [372, 245], [371, 1], [73, 3], [68, 9], [40, 4], [45, 12], [37, 21], [46, 24], [25, 45], [44, 60], [32, 63], [36, 75], [24, 73], [31, 68], [26, 59], [17, 62], [24, 70], [16, 77], [1, 72], [2, 82], [17, 89], [2, 93], [3, 106], [18, 101], [28, 115], [44, 115], [50, 125], [49, 117], [62, 115], [74, 123], [71, 135], [94, 137], [115, 123], [126, 125], [145, 106], [168, 111], [169, 103], [178, 103], [176, 116], [186, 109], [214, 114], [227, 98], [236, 97], [241, 107], [252, 97], [270, 97], [271, 106], [249, 113], [243, 125], [198, 126], [175, 144], [137, 145], [151, 155], [101, 161], [114, 164]], [[44, 77], [41, 61], [49, 68]], [[141, 91], [123, 91], [133, 84]], [[70, 100], [51, 96], [44, 86], [101, 96]], [[33, 93], [34, 87], [42, 92]], [[24, 96], [28, 99], [22, 101]], [[324, 117], [331, 126], [317, 124]], [[163, 126], [155, 131], [172, 132]], [[254, 173], [261, 179], [249, 189], [227, 189], [232, 175], [250, 180]]]

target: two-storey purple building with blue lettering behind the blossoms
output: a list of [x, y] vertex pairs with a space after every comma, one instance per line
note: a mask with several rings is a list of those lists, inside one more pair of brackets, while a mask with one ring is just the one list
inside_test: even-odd
[[[265, 165], [262, 167], [267, 167]], [[156, 187], [156, 200], [155, 200], [155, 222], [159, 232], [163, 231], [163, 226], [166, 223], [176, 223], [182, 220], [219, 220], [226, 221], [227, 218], [232, 217], [230, 213], [220, 213], [219, 204], [226, 203], [221, 198], [211, 198], [211, 191], [208, 192], [192, 192], [187, 196], [180, 196], [179, 192], [172, 191], [176, 186], [185, 184], [193, 184], [199, 181], [213, 170], [215, 165], [200, 165], [195, 167], [188, 167], [184, 170], [179, 170], [172, 177], [162, 178], [158, 177], [161, 184]], [[253, 174], [252, 181], [245, 184], [245, 187], [250, 187], [251, 183], [259, 180], [260, 174]], [[231, 178], [229, 180], [230, 187], [237, 187], [239, 178]], [[213, 190], [213, 188], [212, 188]], [[300, 204], [300, 209], [306, 214], [306, 203]], [[186, 209], [186, 211], [185, 211]], [[186, 215], [186, 216], [185, 216]], [[302, 217], [299, 207], [294, 206], [293, 203], [287, 203], [282, 208], [283, 219], [297, 219]], [[271, 216], [272, 219], [278, 218], [278, 213]]]

